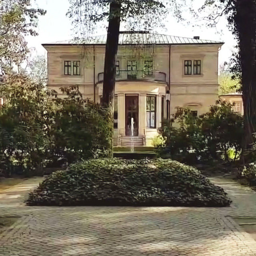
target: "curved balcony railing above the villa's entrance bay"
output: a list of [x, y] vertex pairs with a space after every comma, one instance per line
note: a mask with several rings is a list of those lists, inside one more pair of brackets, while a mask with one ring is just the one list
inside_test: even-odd
[[[98, 83], [102, 83], [104, 79], [104, 72], [98, 73]], [[166, 73], [160, 71], [145, 71], [145, 70], [118, 70], [116, 72], [116, 81], [122, 80], [142, 80], [149, 82], [164, 82], [166, 83]]]

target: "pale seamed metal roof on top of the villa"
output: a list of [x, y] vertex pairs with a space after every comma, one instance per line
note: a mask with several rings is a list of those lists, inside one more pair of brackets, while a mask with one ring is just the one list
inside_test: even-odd
[[[195, 37], [198, 38], [198, 37]], [[203, 40], [180, 36], [168, 36], [164, 34], [150, 33], [148, 31], [124, 31], [119, 34], [119, 44], [223, 44], [213, 40]], [[92, 44], [105, 45], [107, 35], [92, 36], [87, 39], [66, 40], [43, 45], [69, 45], [69, 44]]]

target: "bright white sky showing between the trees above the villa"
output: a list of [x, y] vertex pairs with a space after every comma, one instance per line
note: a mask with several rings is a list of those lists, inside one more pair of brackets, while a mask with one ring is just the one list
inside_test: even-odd
[[[38, 20], [38, 33], [36, 37], [28, 36], [28, 46], [36, 54], [46, 54], [46, 50], [41, 44], [48, 42], [56, 42], [62, 40], [70, 40], [73, 38], [72, 24], [66, 17], [68, 11], [68, 0], [38, 0], [37, 6], [46, 10], [46, 15], [41, 16]], [[171, 16], [166, 20], [165, 28], [157, 31], [158, 33], [191, 37], [200, 36], [200, 39], [216, 40], [225, 42], [219, 52], [219, 65], [225, 61], [228, 62], [232, 55], [232, 50], [236, 45], [231, 32], [226, 26], [226, 20], [220, 20], [216, 28], [208, 28], [206, 26], [193, 27], [192, 24], [177, 22]], [[102, 34], [102, 32], [100, 33]]]

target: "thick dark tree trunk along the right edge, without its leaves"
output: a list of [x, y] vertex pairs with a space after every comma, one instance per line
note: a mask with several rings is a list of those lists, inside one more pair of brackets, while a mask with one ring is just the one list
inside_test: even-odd
[[256, 2], [236, 0], [234, 22], [238, 32], [244, 102], [243, 162], [247, 162], [256, 132]]

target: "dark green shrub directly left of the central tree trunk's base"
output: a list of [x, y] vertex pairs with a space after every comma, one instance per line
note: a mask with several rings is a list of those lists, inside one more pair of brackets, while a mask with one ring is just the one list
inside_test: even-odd
[[52, 100], [48, 112], [52, 156], [70, 162], [111, 154], [112, 115], [110, 110], [84, 100], [76, 86], [61, 88], [66, 98]]

